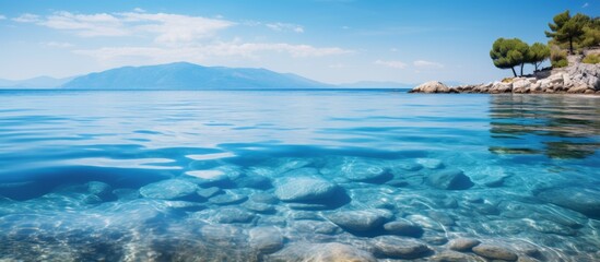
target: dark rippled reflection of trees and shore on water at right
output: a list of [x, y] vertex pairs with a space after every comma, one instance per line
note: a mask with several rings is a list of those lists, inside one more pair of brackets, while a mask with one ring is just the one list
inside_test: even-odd
[[497, 95], [490, 102], [492, 136], [528, 140], [516, 147], [491, 146], [493, 153], [585, 158], [600, 148], [598, 97]]

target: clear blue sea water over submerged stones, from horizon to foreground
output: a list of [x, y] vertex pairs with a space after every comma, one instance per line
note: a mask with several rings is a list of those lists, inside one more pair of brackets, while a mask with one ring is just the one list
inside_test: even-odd
[[599, 114], [597, 96], [5, 91], [0, 259], [427, 261], [473, 238], [597, 261]]

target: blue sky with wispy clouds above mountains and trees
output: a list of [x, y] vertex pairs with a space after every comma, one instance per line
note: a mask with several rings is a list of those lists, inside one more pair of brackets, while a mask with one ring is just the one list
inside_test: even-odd
[[564, 10], [600, 0], [0, 0], [0, 79], [189, 61], [327, 83], [509, 76], [498, 37], [545, 43]]

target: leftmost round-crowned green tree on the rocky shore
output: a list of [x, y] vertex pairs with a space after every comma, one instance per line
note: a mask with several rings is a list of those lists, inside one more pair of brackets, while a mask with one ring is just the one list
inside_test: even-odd
[[528, 61], [529, 46], [518, 38], [505, 39], [498, 38], [494, 41], [490, 57], [494, 61], [494, 66], [499, 69], [511, 69], [513, 74], [517, 78], [515, 67], [522, 66]]

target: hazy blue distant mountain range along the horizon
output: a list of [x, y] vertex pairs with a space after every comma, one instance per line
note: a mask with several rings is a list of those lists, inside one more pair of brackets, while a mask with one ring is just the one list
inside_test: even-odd
[[0, 80], [0, 88], [64, 90], [262, 90], [262, 88], [412, 88], [414, 84], [362, 81], [332, 85], [267, 69], [202, 67], [188, 62], [123, 67], [81, 76]]

